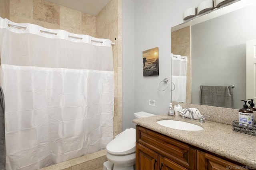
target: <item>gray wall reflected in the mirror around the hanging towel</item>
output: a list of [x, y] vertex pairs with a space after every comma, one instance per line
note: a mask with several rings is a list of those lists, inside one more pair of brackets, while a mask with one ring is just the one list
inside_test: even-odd
[[246, 100], [246, 41], [256, 39], [255, 6], [191, 27], [192, 103], [199, 104], [200, 85], [233, 89], [234, 107]]

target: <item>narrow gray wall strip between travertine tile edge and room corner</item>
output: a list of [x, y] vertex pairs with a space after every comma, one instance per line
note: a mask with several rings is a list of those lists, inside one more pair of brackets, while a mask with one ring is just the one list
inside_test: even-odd
[[134, 0], [122, 1], [122, 129], [134, 127]]

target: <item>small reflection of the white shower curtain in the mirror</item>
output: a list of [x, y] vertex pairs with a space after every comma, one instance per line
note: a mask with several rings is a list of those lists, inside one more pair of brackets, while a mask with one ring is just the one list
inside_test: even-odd
[[186, 102], [188, 57], [172, 54], [172, 101]]

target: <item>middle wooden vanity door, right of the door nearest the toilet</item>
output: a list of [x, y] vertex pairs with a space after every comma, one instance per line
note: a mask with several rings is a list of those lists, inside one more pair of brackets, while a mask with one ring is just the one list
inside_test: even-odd
[[160, 156], [160, 170], [188, 170], [170, 159]]

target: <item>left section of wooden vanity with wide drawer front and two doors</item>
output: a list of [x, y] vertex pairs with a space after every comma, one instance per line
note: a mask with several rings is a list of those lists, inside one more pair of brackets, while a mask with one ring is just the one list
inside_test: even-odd
[[196, 149], [136, 126], [136, 170], [195, 170]]

